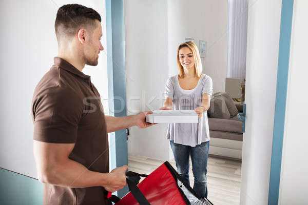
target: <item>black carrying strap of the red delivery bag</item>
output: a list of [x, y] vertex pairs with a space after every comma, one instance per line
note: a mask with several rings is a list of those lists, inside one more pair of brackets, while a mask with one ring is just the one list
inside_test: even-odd
[[[136, 172], [126, 172], [125, 174], [127, 176], [126, 182], [128, 185], [128, 189], [132, 196], [138, 201], [140, 205], [150, 205], [148, 200], [145, 198], [143, 193], [140, 191], [140, 189], [137, 187], [140, 177], [147, 177], [148, 175], [146, 174], [138, 174]], [[108, 198], [109, 204], [112, 204], [112, 202], [116, 203], [120, 201], [120, 198], [112, 195], [111, 197]]]

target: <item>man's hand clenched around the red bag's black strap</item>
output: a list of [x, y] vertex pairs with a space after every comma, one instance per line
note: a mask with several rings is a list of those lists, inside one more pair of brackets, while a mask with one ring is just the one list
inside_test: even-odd
[[104, 187], [105, 190], [112, 193], [123, 189], [123, 187], [127, 185], [125, 176], [125, 172], [127, 169], [127, 165], [113, 169], [110, 172], [110, 183], [108, 186]]

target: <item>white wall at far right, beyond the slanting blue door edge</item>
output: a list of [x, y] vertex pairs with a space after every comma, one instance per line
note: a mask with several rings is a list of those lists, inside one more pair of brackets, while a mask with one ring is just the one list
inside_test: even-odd
[[279, 204], [308, 204], [308, 2], [295, 0], [286, 100]]

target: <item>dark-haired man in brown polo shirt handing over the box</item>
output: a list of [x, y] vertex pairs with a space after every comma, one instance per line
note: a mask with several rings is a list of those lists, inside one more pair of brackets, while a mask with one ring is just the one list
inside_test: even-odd
[[101, 16], [82, 5], [64, 5], [55, 20], [59, 55], [38, 83], [32, 101], [33, 151], [43, 204], [107, 204], [106, 191], [126, 185], [127, 166], [109, 173], [107, 132], [151, 126], [151, 112], [104, 116], [85, 65], [98, 65], [104, 50]]

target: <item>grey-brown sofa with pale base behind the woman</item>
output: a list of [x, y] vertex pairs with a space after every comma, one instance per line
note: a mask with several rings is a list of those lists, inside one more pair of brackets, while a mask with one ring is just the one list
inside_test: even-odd
[[243, 122], [236, 116], [243, 105], [234, 104], [225, 92], [215, 93], [208, 110], [209, 154], [226, 158], [242, 158]]

